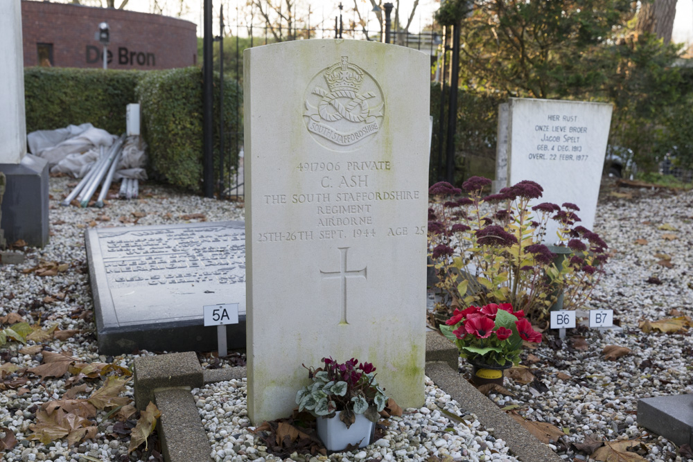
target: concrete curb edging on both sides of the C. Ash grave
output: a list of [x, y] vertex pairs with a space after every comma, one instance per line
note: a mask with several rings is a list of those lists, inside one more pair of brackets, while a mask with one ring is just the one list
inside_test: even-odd
[[[426, 332], [426, 375], [464, 409], [475, 414], [490, 429], [489, 433], [505, 441], [518, 459], [563, 460], [459, 375], [457, 348], [437, 331]], [[193, 352], [135, 359], [135, 402], [138, 409], [144, 409], [152, 400], [161, 411], [158, 427], [164, 461], [211, 460], [211, 444], [190, 391], [203, 384], [246, 376], [245, 367], [203, 370]]]

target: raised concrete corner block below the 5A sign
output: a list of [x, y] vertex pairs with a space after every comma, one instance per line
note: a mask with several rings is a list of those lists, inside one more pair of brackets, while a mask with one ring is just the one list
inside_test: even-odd
[[134, 402], [146, 409], [161, 389], [199, 388], [204, 385], [202, 366], [192, 351], [168, 355], [141, 356], [134, 360]]

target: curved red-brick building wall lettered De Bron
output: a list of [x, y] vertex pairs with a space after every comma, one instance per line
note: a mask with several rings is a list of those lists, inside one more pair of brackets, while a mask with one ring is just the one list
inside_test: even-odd
[[[1, 1], [1, 0], [0, 0]], [[24, 66], [37, 66], [37, 44], [53, 44], [53, 66], [103, 66], [94, 38], [100, 22], [110, 28], [108, 69], [171, 69], [197, 64], [197, 26], [149, 13], [44, 1], [21, 2]]]

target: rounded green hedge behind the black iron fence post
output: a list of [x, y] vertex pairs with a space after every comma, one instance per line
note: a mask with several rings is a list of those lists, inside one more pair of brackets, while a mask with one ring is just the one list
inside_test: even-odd
[[[143, 134], [149, 143], [151, 166], [170, 184], [194, 191], [202, 188], [202, 69], [188, 67], [150, 71], [139, 81], [137, 98], [143, 114]], [[214, 178], [218, 173], [219, 75], [214, 75]], [[234, 80], [224, 80], [225, 151], [232, 163], [243, 141], [240, 107], [243, 94]], [[229, 136], [230, 135], [230, 136]], [[225, 158], [225, 163], [228, 162]], [[229, 169], [225, 166], [227, 175]]]

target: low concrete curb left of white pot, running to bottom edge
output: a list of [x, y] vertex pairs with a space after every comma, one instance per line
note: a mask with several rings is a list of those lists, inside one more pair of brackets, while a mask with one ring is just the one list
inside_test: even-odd
[[211, 444], [189, 390], [157, 391], [155, 404], [161, 411], [158, 431], [166, 462], [211, 461]]

